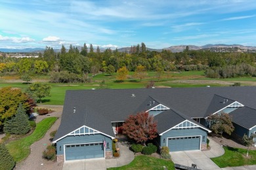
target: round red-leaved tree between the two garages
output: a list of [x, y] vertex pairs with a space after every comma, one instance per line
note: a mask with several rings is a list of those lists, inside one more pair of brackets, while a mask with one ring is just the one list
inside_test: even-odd
[[139, 112], [130, 115], [123, 123], [123, 133], [137, 143], [145, 144], [146, 141], [157, 137], [157, 124], [148, 112]]

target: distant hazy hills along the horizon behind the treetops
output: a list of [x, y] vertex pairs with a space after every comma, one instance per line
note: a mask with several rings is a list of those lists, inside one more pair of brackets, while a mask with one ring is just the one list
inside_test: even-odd
[[[150, 51], [161, 52], [162, 50], [171, 50], [171, 52], [182, 52], [187, 45], [169, 46], [163, 49], [146, 48]], [[203, 46], [188, 45], [190, 50], [210, 50], [212, 52], [256, 52], [256, 46], [243, 46], [240, 44], [206, 44]], [[77, 46], [81, 50], [81, 46]], [[0, 52], [43, 52], [45, 48], [24, 48], [24, 49], [13, 49], [13, 48], [0, 48]], [[68, 49], [67, 49], [68, 50]], [[105, 48], [100, 48], [100, 52], [104, 52]], [[131, 47], [123, 47], [117, 49], [119, 52], [130, 52]], [[54, 49], [55, 52], [60, 52], [60, 49]], [[96, 52], [96, 48], [95, 48]]]

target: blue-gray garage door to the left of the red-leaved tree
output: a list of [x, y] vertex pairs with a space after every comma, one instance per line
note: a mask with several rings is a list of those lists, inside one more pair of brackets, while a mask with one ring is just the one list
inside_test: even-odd
[[65, 156], [66, 160], [104, 158], [103, 143], [66, 145]]

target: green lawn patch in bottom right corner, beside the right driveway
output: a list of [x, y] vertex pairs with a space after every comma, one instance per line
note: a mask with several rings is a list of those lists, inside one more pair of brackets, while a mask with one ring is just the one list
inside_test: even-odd
[[247, 150], [242, 148], [223, 147], [225, 153], [223, 156], [211, 158], [219, 167], [239, 167], [244, 165], [256, 164], [256, 150], [249, 150], [249, 156], [246, 157]]

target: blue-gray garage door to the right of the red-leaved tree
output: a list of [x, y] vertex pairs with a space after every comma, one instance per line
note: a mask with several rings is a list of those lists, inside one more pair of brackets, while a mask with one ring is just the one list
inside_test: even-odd
[[168, 139], [169, 150], [200, 150], [200, 137], [175, 137]]

